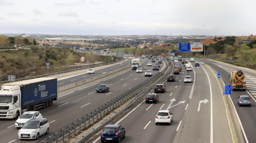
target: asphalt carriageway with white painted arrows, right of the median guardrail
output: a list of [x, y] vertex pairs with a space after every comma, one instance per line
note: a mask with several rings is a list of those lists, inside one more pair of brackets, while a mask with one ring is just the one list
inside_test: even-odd
[[[194, 65], [194, 63], [192, 63]], [[185, 69], [185, 68], [184, 68]], [[184, 72], [184, 73], [183, 73]], [[184, 83], [184, 76], [195, 78], [192, 83]], [[196, 75], [196, 76], [195, 76]], [[157, 104], [145, 101], [135, 105], [136, 110], [127, 111], [114, 124], [125, 128], [122, 143], [186, 143], [186, 142], [226, 142], [232, 138], [221, 90], [214, 74], [207, 66], [193, 67], [193, 71], [181, 71], [175, 82], [165, 82], [166, 92], [157, 93]], [[155, 124], [159, 110], [173, 113], [171, 125]], [[121, 120], [120, 120], [121, 119]], [[100, 143], [97, 134], [90, 143]]]

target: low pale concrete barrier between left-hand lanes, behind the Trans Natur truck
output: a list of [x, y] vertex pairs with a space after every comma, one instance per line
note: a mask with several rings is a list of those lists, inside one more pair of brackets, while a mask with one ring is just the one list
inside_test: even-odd
[[122, 71], [122, 70], [127, 69], [127, 68], [131, 68], [131, 65], [127, 65], [127, 66], [124, 66], [122, 68], [115, 69], [115, 70], [110, 71], [110, 72], [106, 72], [105, 74], [96, 75], [94, 77], [87, 78], [87, 79], [82, 80], [82, 81], [78, 81], [76, 83], [71, 83], [71, 84], [68, 84], [68, 85], [65, 85], [65, 86], [62, 86], [62, 87], [58, 87], [57, 92], [61, 92], [61, 91], [64, 91], [64, 90], [67, 90], [67, 89], [71, 89], [71, 88], [76, 87], [76, 86], [80, 86], [82, 84], [89, 83], [89, 82], [91, 82], [93, 80], [97, 80], [99, 78], [105, 77], [107, 75], [114, 74], [116, 72]]

